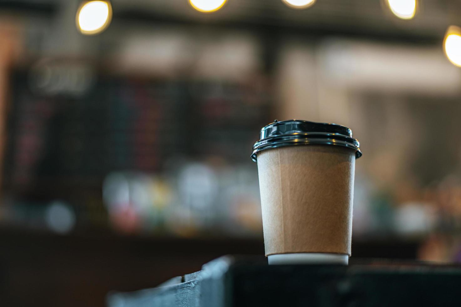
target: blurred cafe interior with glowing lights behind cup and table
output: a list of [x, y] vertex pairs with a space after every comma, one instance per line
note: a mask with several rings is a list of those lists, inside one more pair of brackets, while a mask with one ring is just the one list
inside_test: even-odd
[[263, 257], [251, 148], [348, 126], [353, 254], [461, 261], [461, 2], [0, 0], [2, 306]]

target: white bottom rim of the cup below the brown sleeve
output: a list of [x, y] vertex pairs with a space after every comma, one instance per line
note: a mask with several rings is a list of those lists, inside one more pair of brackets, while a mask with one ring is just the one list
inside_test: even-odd
[[269, 265], [348, 265], [349, 255], [332, 253], [289, 253], [267, 256]]

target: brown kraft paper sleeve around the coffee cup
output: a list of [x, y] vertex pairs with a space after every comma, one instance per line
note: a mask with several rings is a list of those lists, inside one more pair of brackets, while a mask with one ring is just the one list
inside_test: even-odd
[[257, 152], [266, 256], [350, 256], [355, 158], [355, 150], [331, 145]]

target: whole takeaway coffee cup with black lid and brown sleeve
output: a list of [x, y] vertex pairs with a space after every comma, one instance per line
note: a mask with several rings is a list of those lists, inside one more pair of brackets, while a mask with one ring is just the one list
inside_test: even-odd
[[286, 120], [261, 129], [252, 158], [266, 256], [278, 255], [270, 262], [347, 264], [360, 156], [359, 142], [344, 126]]

